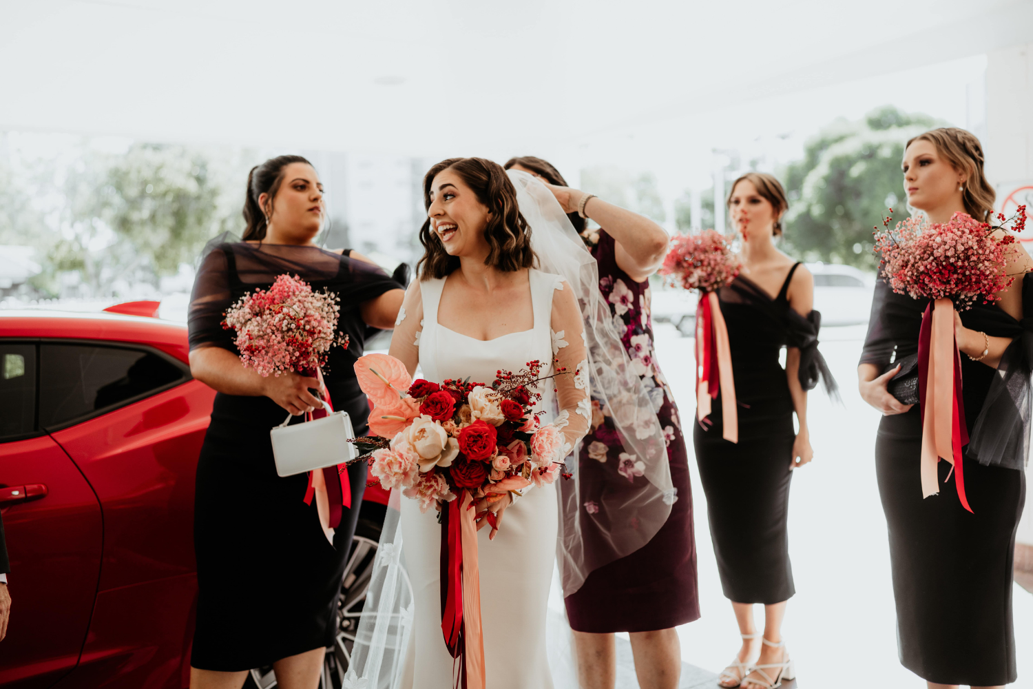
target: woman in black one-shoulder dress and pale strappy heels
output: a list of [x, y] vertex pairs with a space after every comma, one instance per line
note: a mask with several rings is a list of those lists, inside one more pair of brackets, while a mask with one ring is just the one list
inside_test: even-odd
[[[718, 683], [768, 689], [795, 677], [781, 627], [795, 591], [786, 533], [789, 480], [813, 456], [807, 390], [819, 373], [829, 392], [835, 383], [817, 349], [814, 279], [773, 243], [787, 208], [782, 185], [771, 175], [748, 173], [732, 185], [728, 208], [743, 240], [743, 271], [718, 290], [718, 300], [728, 328], [739, 442], [722, 438], [720, 397], [695, 425], [693, 441], [721, 586], [743, 637]], [[785, 369], [782, 347], [788, 347]], [[754, 603], [764, 604], [762, 634], [754, 626]]]

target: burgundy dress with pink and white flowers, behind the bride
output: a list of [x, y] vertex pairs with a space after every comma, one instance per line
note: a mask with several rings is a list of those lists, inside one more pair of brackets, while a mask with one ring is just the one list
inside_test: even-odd
[[[699, 618], [692, 490], [682, 420], [667, 381], [653, 354], [649, 282], [635, 282], [617, 265], [616, 242], [605, 230], [592, 255], [599, 289], [609, 302], [624, 347], [647, 386], [667, 441], [674, 504], [666, 523], [643, 547], [592, 571], [565, 602], [571, 628], [591, 633], [667, 629]], [[611, 410], [592, 401], [592, 426], [577, 458], [585, 509], [599, 496], [646, 480], [614, 429]], [[586, 534], [591, 547], [591, 534]]]

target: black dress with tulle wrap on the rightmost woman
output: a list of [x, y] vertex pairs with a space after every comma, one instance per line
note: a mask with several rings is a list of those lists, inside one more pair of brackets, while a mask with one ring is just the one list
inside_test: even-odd
[[[1030, 435], [1033, 276], [1023, 282], [1022, 322], [980, 302], [961, 312], [965, 326], [1015, 339], [996, 370], [1000, 376], [961, 356], [965, 422], [972, 439], [965, 447], [964, 483], [972, 512], [959, 500], [947, 462], [938, 463], [939, 495], [922, 498], [919, 405], [883, 416], [875, 443], [901, 663], [938, 684], [994, 686], [1016, 679], [1011, 582], [1026, 494], [1022, 469]], [[897, 294], [880, 281], [860, 363], [883, 371], [891, 361], [918, 351], [928, 305], [929, 300]]]

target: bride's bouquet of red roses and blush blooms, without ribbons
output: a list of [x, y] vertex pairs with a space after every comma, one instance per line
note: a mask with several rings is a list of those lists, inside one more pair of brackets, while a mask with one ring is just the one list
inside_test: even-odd
[[[545, 378], [538, 377], [540, 362], [527, 367], [499, 371], [491, 386], [469, 379], [439, 384], [410, 381], [402, 362], [386, 354], [359, 358], [355, 373], [373, 402], [370, 431], [377, 435], [355, 443], [370, 452], [370, 474], [422, 511], [462, 491], [492, 502], [555, 481], [570, 451], [560, 433], [565, 412], [540, 426], [532, 409], [541, 395], [533, 390]], [[494, 526], [492, 512], [487, 519]]]

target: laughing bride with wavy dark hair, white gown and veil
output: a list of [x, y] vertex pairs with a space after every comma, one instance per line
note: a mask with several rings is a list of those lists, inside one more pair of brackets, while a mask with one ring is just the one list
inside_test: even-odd
[[[424, 200], [419, 279], [406, 293], [390, 354], [410, 374], [420, 366], [431, 381], [469, 378], [488, 385], [500, 369], [552, 363], [542, 366], [543, 375], [560, 373], [540, 384], [536, 409], [544, 412], [541, 424], [555, 424], [574, 448], [592, 416], [590, 377], [593, 387], [604, 379], [598, 383], [603, 395], [606, 388], [627, 395], [635, 386], [624, 380], [629, 367], [614, 361], [624, 350], [611, 319], [592, 315], [608, 311], [596, 304], [594, 261], [563, 210], [530, 175], [507, 176], [482, 158], [434, 165], [424, 178]], [[659, 426], [644, 432], [643, 419], [627, 424], [638, 442], [662, 438]], [[558, 540], [564, 577], [584, 578], [577, 505], [557, 496], [563, 480], [476, 506], [484, 674], [492, 689], [553, 687], [545, 621]], [[570, 494], [566, 487], [562, 492]], [[441, 628], [441, 526], [436, 512], [421, 513], [397, 491], [390, 506], [344, 686], [447, 689], [459, 661]], [[489, 509], [494, 528], [486, 528]]]

